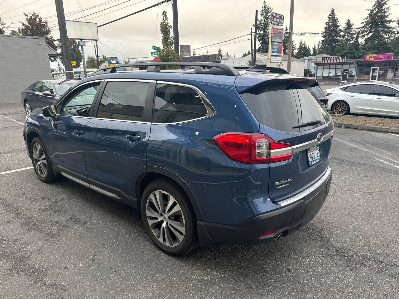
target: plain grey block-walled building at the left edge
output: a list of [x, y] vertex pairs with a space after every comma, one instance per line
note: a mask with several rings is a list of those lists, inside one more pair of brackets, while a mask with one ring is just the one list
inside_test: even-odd
[[44, 37], [0, 34], [0, 103], [21, 102], [21, 90], [51, 79], [49, 57], [59, 55]]

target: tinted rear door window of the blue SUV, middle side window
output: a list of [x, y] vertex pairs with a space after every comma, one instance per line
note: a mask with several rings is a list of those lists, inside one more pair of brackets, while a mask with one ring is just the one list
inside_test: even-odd
[[146, 82], [108, 82], [97, 117], [142, 121], [148, 85]]

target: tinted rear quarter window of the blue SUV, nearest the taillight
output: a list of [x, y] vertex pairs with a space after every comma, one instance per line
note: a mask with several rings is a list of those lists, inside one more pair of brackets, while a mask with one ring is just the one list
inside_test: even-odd
[[206, 114], [207, 109], [194, 89], [171, 84], [157, 85], [153, 122], [184, 122]]

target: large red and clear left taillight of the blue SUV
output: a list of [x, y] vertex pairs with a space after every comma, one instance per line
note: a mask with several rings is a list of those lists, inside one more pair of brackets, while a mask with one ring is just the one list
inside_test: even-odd
[[227, 157], [250, 164], [274, 163], [289, 160], [292, 148], [260, 133], [221, 133], [212, 138]]

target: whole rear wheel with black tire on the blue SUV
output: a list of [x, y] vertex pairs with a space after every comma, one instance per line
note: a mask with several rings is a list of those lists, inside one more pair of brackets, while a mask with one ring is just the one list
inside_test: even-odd
[[198, 246], [196, 215], [177, 183], [167, 179], [150, 183], [142, 195], [141, 216], [151, 240], [164, 252], [179, 256]]

